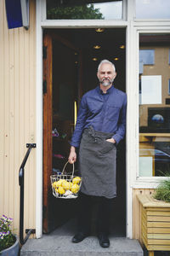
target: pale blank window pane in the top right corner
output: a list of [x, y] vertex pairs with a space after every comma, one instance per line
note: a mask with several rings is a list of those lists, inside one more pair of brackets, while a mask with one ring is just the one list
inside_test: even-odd
[[137, 19], [169, 19], [169, 0], [136, 0]]

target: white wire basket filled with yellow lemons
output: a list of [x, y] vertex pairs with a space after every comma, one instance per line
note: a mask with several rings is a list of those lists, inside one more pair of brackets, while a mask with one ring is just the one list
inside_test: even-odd
[[[68, 161], [65, 166], [67, 164]], [[50, 176], [53, 195], [62, 199], [77, 198], [82, 185], [82, 177], [74, 176], [74, 163], [72, 165], [72, 175], [64, 174], [65, 166], [61, 174]]]

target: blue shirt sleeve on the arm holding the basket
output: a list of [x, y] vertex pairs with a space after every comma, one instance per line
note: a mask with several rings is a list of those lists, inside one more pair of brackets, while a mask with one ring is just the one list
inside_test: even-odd
[[80, 108], [77, 115], [77, 125], [71, 138], [71, 146], [73, 147], [77, 148], [80, 145], [80, 142], [82, 139], [82, 131], [83, 131], [84, 125], [86, 124], [87, 114], [88, 114], [88, 108], [87, 108], [86, 98], [85, 96], [82, 96], [82, 101], [80, 103]]

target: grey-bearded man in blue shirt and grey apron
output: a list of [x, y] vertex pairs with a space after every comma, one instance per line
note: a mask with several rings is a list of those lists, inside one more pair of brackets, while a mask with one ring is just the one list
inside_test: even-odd
[[82, 175], [81, 207], [78, 233], [73, 242], [80, 242], [90, 233], [90, 215], [98, 201], [97, 234], [101, 247], [109, 247], [111, 205], [116, 197], [116, 145], [125, 134], [127, 96], [112, 84], [116, 78], [113, 63], [99, 63], [99, 86], [82, 96], [77, 125], [71, 139], [69, 162], [77, 160]]

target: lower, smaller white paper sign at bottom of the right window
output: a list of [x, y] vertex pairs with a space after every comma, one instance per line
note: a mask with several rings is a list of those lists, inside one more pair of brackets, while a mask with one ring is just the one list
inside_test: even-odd
[[139, 157], [139, 177], [152, 177], [152, 157]]

